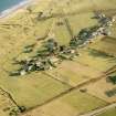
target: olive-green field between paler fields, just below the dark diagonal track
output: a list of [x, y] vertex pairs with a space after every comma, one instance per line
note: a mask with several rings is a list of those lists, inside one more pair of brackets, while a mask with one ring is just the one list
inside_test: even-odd
[[78, 91], [73, 91], [72, 93], [65, 95], [61, 101], [65, 104], [70, 104], [72, 107], [82, 113], [106, 105], [105, 102]]

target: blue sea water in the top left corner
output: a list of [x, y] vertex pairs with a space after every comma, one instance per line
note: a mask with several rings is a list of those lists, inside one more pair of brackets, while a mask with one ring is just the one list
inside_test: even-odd
[[0, 0], [0, 12], [10, 9], [11, 7], [22, 2], [24, 0]]

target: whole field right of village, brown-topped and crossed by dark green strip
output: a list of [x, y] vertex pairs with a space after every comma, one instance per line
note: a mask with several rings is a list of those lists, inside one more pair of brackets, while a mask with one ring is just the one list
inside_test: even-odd
[[105, 72], [116, 65], [116, 40], [114, 38], [102, 38], [102, 40], [89, 44], [81, 50], [77, 62], [97, 71]]

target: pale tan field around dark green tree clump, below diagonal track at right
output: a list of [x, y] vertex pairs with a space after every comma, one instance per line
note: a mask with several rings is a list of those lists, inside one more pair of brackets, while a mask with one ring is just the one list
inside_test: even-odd
[[106, 95], [106, 92], [109, 92], [115, 88], [116, 88], [116, 85], [107, 82], [105, 77], [96, 83], [83, 86], [83, 89], [87, 89], [87, 93], [101, 99], [104, 99], [107, 103], [116, 102], [116, 95], [113, 95], [110, 97]]

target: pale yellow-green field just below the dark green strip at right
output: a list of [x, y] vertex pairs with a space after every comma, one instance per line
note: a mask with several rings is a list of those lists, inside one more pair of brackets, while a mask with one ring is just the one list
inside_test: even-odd
[[92, 54], [89, 49], [81, 51], [81, 55], [75, 61], [101, 72], [105, 72], [116, 64], [115, 57], [99, 55], [99, 53]]

